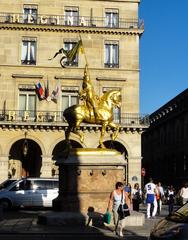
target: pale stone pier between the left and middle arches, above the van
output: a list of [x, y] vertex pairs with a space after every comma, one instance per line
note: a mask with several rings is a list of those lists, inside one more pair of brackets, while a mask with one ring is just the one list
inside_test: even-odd
[[52, 155], [42, 155], [41, 177], [52, 177]]

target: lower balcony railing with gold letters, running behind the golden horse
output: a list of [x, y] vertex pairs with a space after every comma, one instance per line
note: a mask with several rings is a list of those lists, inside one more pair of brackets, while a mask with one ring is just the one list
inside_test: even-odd
[[[56, 124], [66, 123], [63, 111], [21, 111], [21, 110], [0, 110], [0, 124], [12, 123], [41, 123]], [[120, 125], [149, 125], [149, 115], [137, 113], [122, 113], [114, 115], [114, 122]]]

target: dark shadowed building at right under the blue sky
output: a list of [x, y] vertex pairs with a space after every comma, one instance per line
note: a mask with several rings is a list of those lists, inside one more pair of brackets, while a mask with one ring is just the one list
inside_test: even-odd
[[188, 180], [188, 89], [150, 115], [142, 135], [146, 177], [163, 185], [182, 186]]

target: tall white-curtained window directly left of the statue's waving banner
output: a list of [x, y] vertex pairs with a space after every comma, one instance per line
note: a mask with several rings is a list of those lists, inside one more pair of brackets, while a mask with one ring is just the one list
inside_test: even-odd
[[21, 63], [36, 65], [36, 39], [25, 38], [22, 40]]

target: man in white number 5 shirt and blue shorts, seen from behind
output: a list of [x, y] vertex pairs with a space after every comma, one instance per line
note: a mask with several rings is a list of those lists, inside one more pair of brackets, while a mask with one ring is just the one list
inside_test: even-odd
[[153, 180], [145, 185], [146, 204], [147, 204], [147, 218], [151, 217], [151, 206], [153, 205], [152, 217], [157, 213], [157, 200], [156, 200], [156, 185]]

